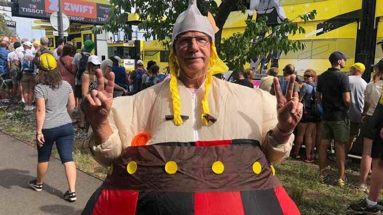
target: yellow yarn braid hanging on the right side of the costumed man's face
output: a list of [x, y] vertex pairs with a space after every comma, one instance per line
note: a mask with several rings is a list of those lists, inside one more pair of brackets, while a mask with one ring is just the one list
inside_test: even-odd
[[210, 91], [210, 88], [211, 88], [211, 83], [212, 83], [212, 80], [213, 80], [213, 77], [211, 75], [211, 68], [213, 68], [213, 66], [215, 65], [215, 63], [217, 62], [218, 60], [218, 54], [217, 54], [217, 50], [215, 49], [215, 44], [214, 42], [211, 42], [211, 46], [210, 46], [210, 60], [209, 60], [209, 64], [208, 64], [208, 71], [207, 71], [207, 74], [206, 74], [206, 80], [205, 80], [205, 92], [203, 94], [203, 99], [202, 99], [202, 115], [201, 115], [201, 119], [202, 119], [202, 122], [205, 123], [205, 125], [207, 125], [208, 121], [206, 120], [205, 118], [205, 115], [206, 114], [209, 114], [210, 113], [210, 109], [209, 109], [209, 103], [207, 101], [207, 95]]

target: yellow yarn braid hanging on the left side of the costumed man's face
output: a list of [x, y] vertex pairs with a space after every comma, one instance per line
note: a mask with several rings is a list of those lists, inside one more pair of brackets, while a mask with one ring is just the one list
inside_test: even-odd
[[184, 121], [181, 118], [181, 98], [177, 85], [177, 67], [174, 63], [176, 56], [173, 49], [170, 51], [169, 68], [170, 68], [170, 92], [172, 93], [173, 100], [173, 122], [175, 125], [181, 125]]

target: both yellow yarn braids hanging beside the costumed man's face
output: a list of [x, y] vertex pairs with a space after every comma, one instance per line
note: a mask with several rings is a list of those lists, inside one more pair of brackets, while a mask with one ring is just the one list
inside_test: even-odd
[[[202, 115], [201, 119], [202, 122], [207, 125], [208, 121], [204, 117], [206, 114], [210, 113], [209, 109], [209, 104], [207, 101], [207, 95], [210, 91], [211, 88], [211, 83], [212, 83], [212, 74], [211, 74], [211, 68], [214, 66], [214, 64], [218, 61], [218, 54], [215, 49], [215, 44], [214, 42], [211, 42], [210, 46], [210, 60], [208, 64], [208, 69], [207, 69], [207, 74], [206, 74], [206, 80], [205, 80], [205, 92], [203, 94], [202, 98]], [[184, 121], [181, 118], [181, 98], [180, 98], [180, 93], [178, 91], [178, 85], [177, 85], [177, 79], [178, 79], [178, 74], [177, 74], [177, 66], [176, 66], [176, 55], [174, 54], [173, 49], [170, 51], [170, 56], [169, 56], [169, 68], [170, 68], [170, 74], [171, 74], [171, 79], [170, 79], [170, 92], [172, 93], [172, 100], [173, 100], [173, 114], [174, 114], [174, 119], [173, 122], [175, 125], [181, 125]]]

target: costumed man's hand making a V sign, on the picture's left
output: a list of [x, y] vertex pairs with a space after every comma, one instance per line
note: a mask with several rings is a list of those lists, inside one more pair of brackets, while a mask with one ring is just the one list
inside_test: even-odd
[[108, 115], [113, 103], [114, 73], [109, 73], [109, 80], [104, 87], [104, 77], [101, 69], [96, 70], [98, 89], [93, 90], [85, 97], [86, 117], [93, 130], [100, 125], [108, 123]]

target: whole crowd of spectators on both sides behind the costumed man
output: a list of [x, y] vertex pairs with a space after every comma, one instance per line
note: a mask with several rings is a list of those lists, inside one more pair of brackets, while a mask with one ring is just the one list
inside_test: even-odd
[[[137, 60], [136, 69], [129, 72], [122, 65], [120, 56], [110, 56], [100, 62], [92, 54], [94, 42], [87, 40], [76, 53], [73, 43], [59, 41], [53, 52], [48, 49], [48, 38], [30, 42], [22, 39], [12, 46], [8, 41], [0, 41], [0, 75], [11, 80], [7, 86], [12, 97], [25, 103], [24, 110], [36, 109], [36, 141], [38, 143], [37, 178], [29, 185], [36, 191], [42, 190], [42, 182], [47, 171], [50, 151], [55, 142], [68, 179], [68, 191], [64, 199], [76, 200], [76, 170], [72, 159], [74, 138], [73, 124], [79, 121], [79, 127], [87, 129], [89, 123], [84, 114], [84, 98], [98, 89], [96, 71], [100, 68], [103, 79], [109, 73], [115, 74], [113, 98], [129, 96], [169, 79], [169, 75], [160, 73], [155, 61], [149, 61], [146, 69], [144, 61]], [[350, 208], [358, 211], [377, 211], [377, 199], [383, 184], [382, 114], [383, 101], [383, 59], [373, 65], [372, 81], [363, 78], [365, 65], [355, 63], [351, 66], [350, 76], [341, 72], [345, 68], [348, 56], [342, 52], [330, 55], [331, 68], [318, 75], [313, 69], [307, 69], [302, 76], [296, 76], [293, 95], [298, 96], [304, 105], [301, 121], [296, 129], [295, 147], [291, 156], [301, 159], [301, 146], [305, 145], [304, 161], [312, 163], [319, 159], [319, 180], [330, 181], [327, 174], [327, 156], [330, 143], [334, 142], [339, 175], [336, 184], [347, 186], [345, 174], [346, 159], [352, 145], [359, 135], [363, 136], [363, 155], [359, 190], [368, 192], [368, 174], [372, 170], [370, 195]], [[259, 88], [274, 95], [273, 80], [279, 73], [278, 68], [270, 68], [267, 76], [260, 81]], [[279, 85], [286, 94], [288, 80], [296, 74], [295, 67], [288, 64], [283, 68], [283, 77]], [[236, 84], [253, 88], [254, 70], [239, 72]], [[106, 83], [106, 81], [102, 81]], [[6, 98], [4, 89], [0, 96]], [[78, 112], [78, 119], [73, 112]], [[377, 113], [378, 112], [378, 113]], [[363, 209], [365, 206], [366, 209]]]

